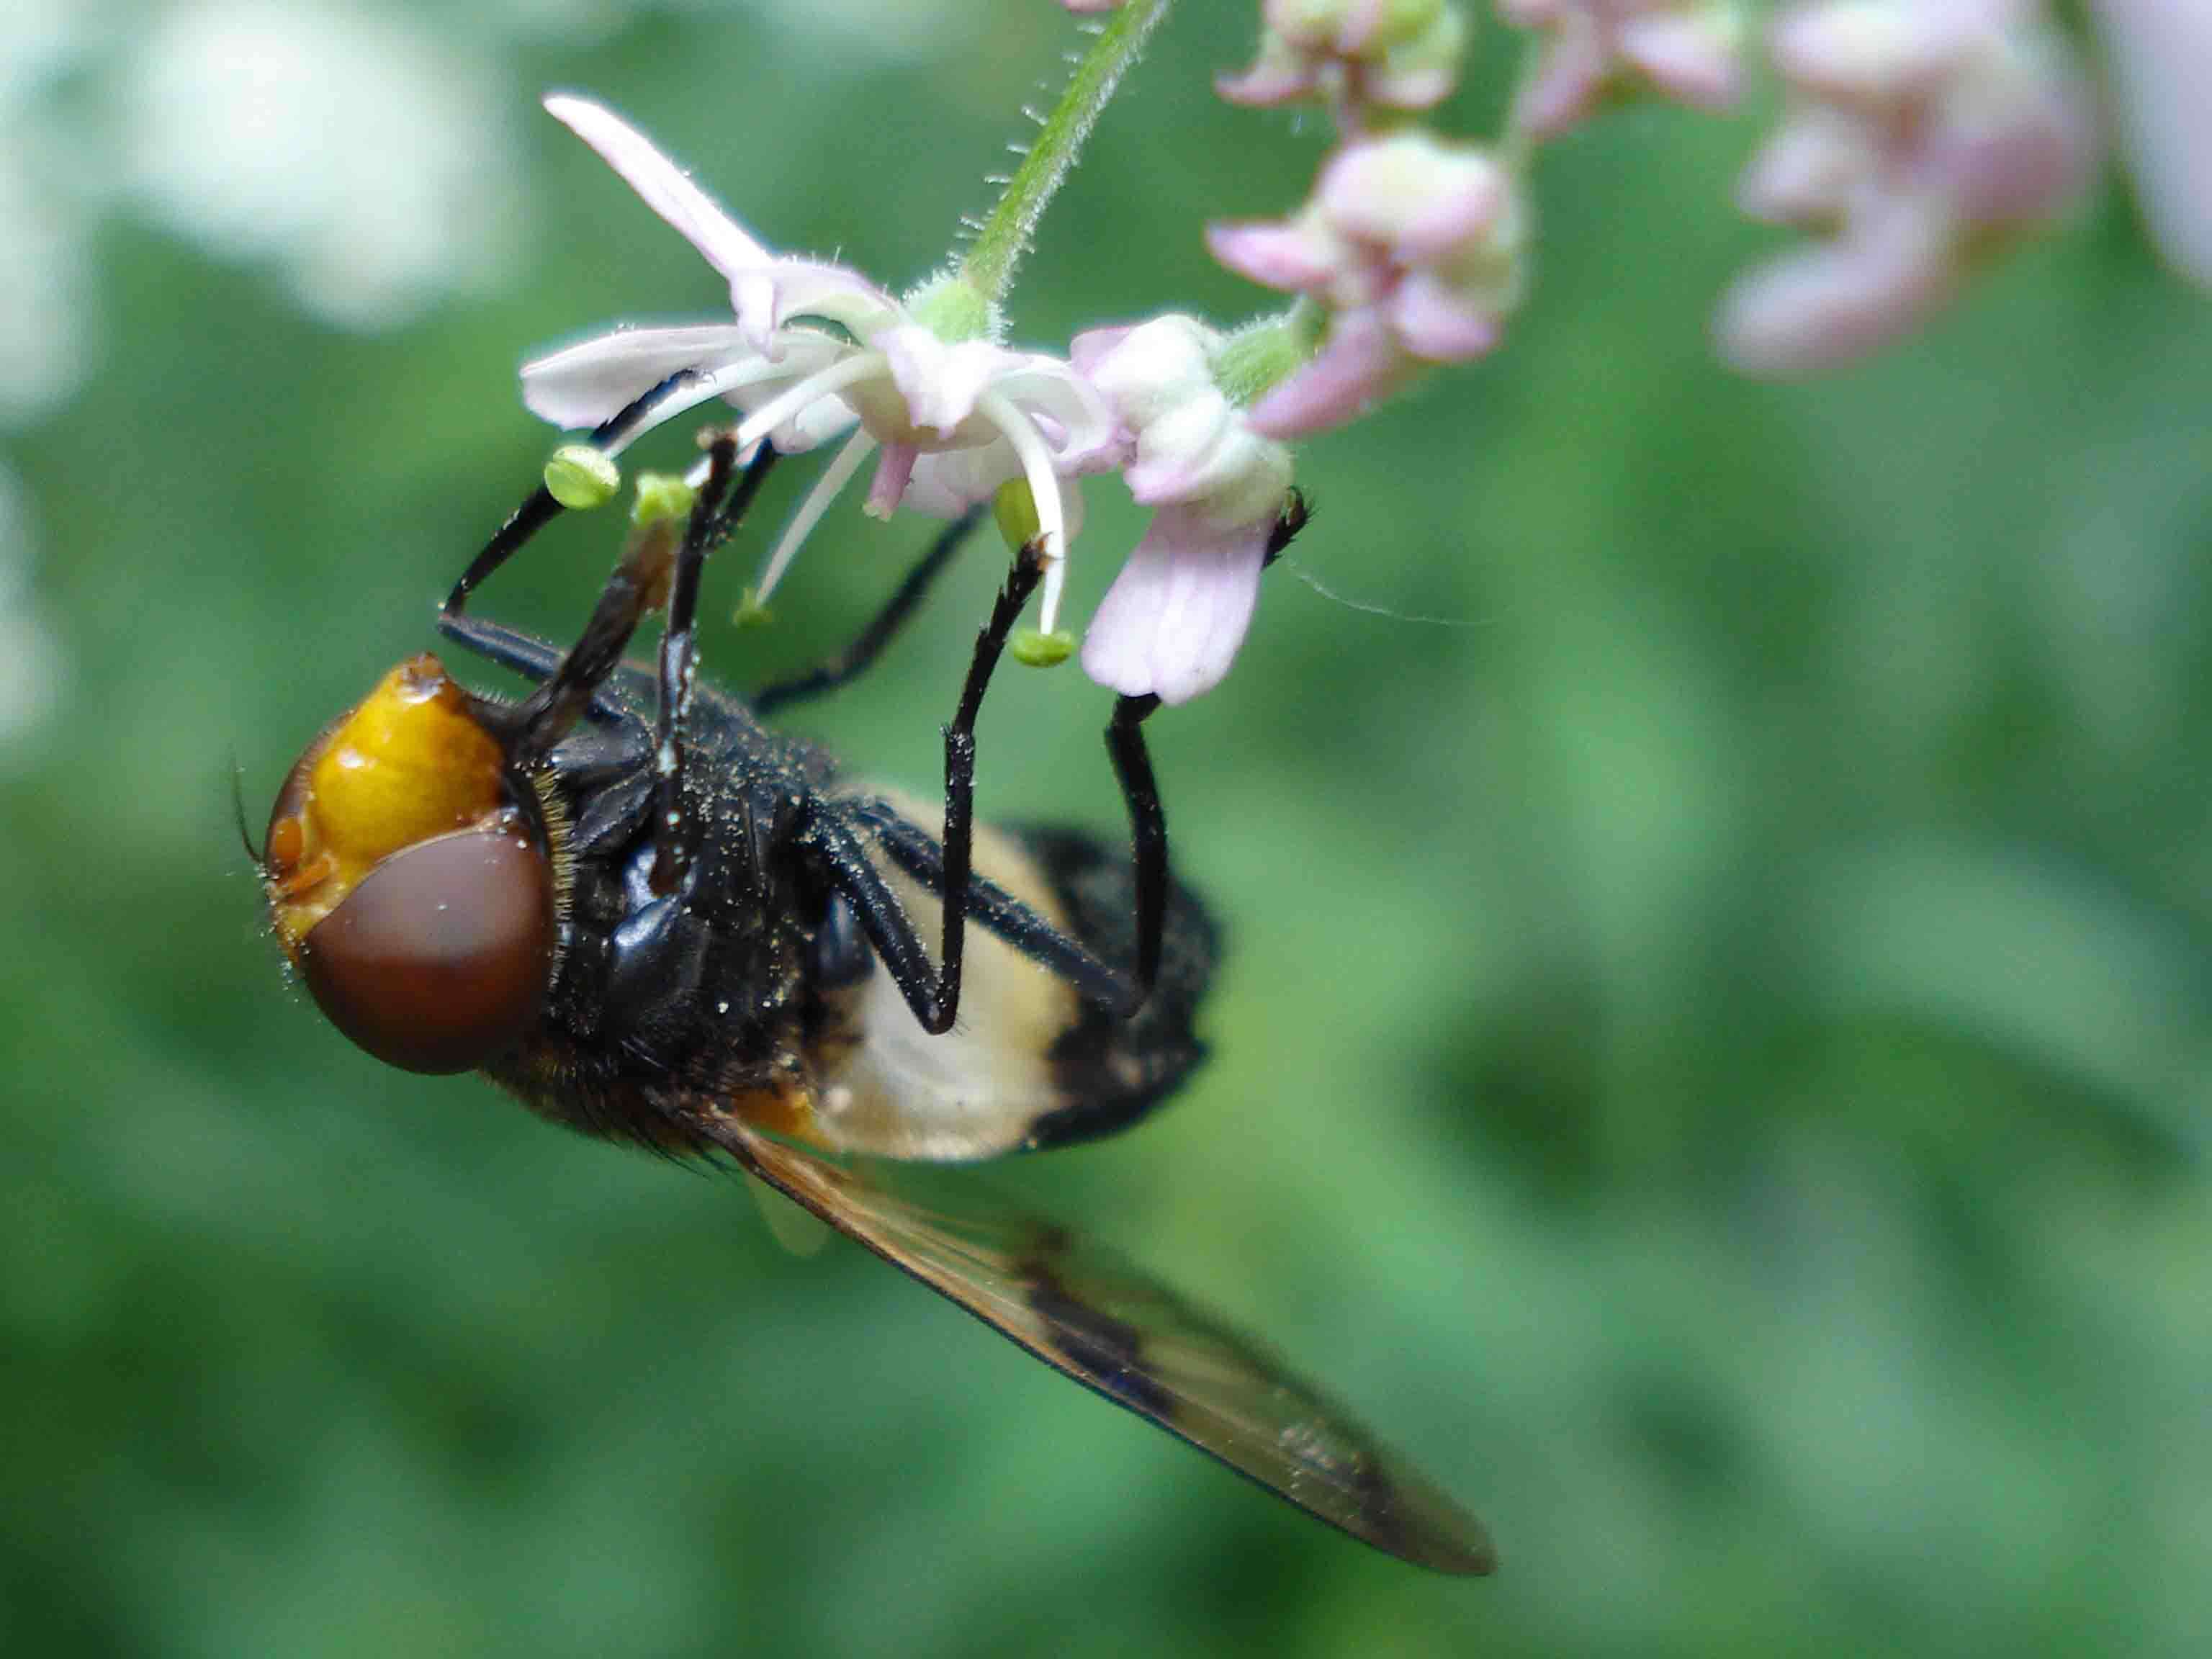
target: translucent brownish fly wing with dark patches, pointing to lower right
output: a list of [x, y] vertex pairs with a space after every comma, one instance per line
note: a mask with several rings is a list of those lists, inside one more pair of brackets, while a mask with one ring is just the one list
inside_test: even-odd
[[1354, 1537], [1440, 1573], [1489, 1573], [1482, 1522], [1265, 1347], [1119, 1256], [1033, 1219], [945, 1214], [730, 1121], [752, 1175], [1055, 1371]]

